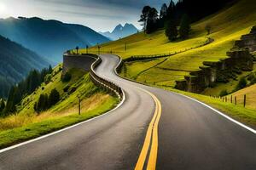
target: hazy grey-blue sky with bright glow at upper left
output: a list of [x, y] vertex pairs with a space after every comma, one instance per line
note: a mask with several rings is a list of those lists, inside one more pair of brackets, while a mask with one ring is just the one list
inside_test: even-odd
[[[125, 22], [139, 27], [144, 5], [160, 8], [171, 0], [0, 0], [0, 18], [38, 16], [112, 31]], [[140, 27], [139, 27], [140, 28]]]

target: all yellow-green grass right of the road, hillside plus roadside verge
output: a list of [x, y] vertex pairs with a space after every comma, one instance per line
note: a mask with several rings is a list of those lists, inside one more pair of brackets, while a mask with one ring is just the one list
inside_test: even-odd
[[[175, 81], [188, 76], [191, 71], [198, 71], [204, 61], [218, 61], [228, 56], [226, 52], [233, 48], [234, 42], [239, 40], [242, 35], [247, 34], [253, 26], [256, 25], [256, 3], [253, 0], [241, 0], [233, 6], [224, 8], [217, 14], [212, 14], [206, 19], [200, 20], [192, 25], [191, 35], [188, 40], [181, 42], [168, 42], [164, 31], [157, 31], [151, 35], [143, 33], [126, 37], [119, 41], [103, 44], [102, 48], [112, 49], [114, 54], [118, 54], [123, 59], [131, 55], [144, 54], [165, 54], [174, 51], [180, 51], [186, 48], [194, 48], [202, 44], [207, 37], [205, 26], [212, 26], [212, 33], [209, 37], [214, 42], [185, 51], [166, 58], [167, 60], [160, 65], [160, 59], [151, 61], [137, 61], [125, 65], [120, 75], [143, 82], [150, 86], [166, 88], [170, 91], [185, 94], [195, 99], [199, 99], [219, 111], [245, 122], [248, 125], [256, 126], [256, 108], [255, 108], [255, 87], [249, 87], [237, 92], [237, 97], [247, 92], [248, 104], [246, 108], [239, 103], [238, 105], [223, 103], [220, 99], [213, 99], [207, 95], [218, 95], [224, 89], [231, 93], [238, 83], [240, 77], [247, 76], [249, 72], [242, 72], [237, 80], [230, 80], [228, 83], [217, 83], [214, 88], [207, 88], [203, 94], [191, 94], [173, 89]], [[125, 42], [128, 44], [128, 50], [125, 52]], [[91, 48], [95, 50], [96, 48]], [[82, 50], [83, 51], [83, 50]], [[116, 51], [116, 52], [115, 52]], [[245, 92], [246, 91], [246, 92]], [[240, 98], [240, 97], [239, 97]], [[239, 99], [238, 99], [239, 100]]]

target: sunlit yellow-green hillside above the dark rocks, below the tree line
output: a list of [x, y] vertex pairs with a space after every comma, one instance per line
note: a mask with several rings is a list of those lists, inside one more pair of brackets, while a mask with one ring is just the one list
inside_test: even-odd
[[[194, 23], [190, 37], [185, 41], [169, 42], [163, 30], [150, 35], [141, 32], [115, 42], [102, 44], [101, 51], [102, 53], [112, 51], [113, 54], [118, 54], [123, 59], [132, 55], [185, 51], [167, 57], [162, 63], [160, 59], [151, 60], [148, 63], [131, 62], [126, 65], [126, 72], [122, 73], [139, 82], [174, 87], [176, 80], [183, 79], [185, 75], [189, 75], [190, 71], [199, 70], [203, 61], [218, 61], [218, 59], [227, 58], [226, 52], [234, 46], [234, 42], [256, 25], [255, 8], [256, 3], [253, 0], [241, 0], [231, 7], [224, 8], [217, 14], [212, 14]], [[212, 33], [209, 36], [205, 31], [207, 25], [212, 27]], [[214, 42], [200, 47], [207, 42], [207, 37], [213, 38]], [[125, 51], [125, 43], [127, 51]], [[96, 53], [96, 51], [97, 47], [89, 50], [90, 53]], [[85, 53], [85, 49], [80, 50], [80, 53]], [[211, 94], [211, 89], [208, 90], [209, 92], [206, 91], [205, 94]], [[218, 90], [213, 90], [213, 92], [219, 93]]]

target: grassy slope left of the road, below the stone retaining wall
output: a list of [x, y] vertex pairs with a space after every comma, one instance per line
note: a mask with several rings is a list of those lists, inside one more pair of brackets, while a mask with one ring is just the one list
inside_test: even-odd
[[[84, 71], [73, 69], [71, 80], [61, 82], [60, 68], [61, 65], [55, 67], [49, 83], [42, 83], [21, 101], [15, 115], [0, 118], [0, 148], [98, 116], [118, 103], [117, 98], [97, 88]], [[33, 105], [40, 94], [49, 94], [54, 88], [61, 94], [61, 100], [48, 111], [36, 113]], [[80, 116], [78, 96], [82, 99]]]

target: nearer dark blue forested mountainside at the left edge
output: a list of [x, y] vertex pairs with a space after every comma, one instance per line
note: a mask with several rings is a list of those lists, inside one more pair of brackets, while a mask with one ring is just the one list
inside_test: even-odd
[[49, 66], [49, 61], [20, 44], [0, 36], [0, 98], [6, 98], [9, 88], [20, 82], [32, 69]]

